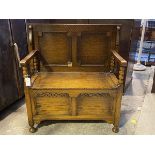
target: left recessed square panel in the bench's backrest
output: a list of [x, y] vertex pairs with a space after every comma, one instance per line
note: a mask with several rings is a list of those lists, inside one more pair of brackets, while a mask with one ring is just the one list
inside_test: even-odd
[[44, 65], [67, 65], [70, 60], [71, 39], [65, 32], [39, 33], [39, 49]]

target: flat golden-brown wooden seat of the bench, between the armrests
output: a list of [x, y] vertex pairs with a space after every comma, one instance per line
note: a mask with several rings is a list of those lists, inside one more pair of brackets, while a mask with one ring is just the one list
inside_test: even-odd
[[32, 89], [113, 89], [119, 85], [113, 73], [104, 72], [39, 72]]

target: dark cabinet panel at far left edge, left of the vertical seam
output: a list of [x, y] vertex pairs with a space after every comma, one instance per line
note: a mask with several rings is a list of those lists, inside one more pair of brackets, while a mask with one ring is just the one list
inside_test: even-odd
[[15, 55], [8, 19], [0, 19], [0, 111], [18, 99]]

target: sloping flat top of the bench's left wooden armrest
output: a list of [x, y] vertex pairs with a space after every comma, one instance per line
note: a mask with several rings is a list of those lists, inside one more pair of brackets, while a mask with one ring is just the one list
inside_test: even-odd
[[27, 65], [27, 64], [29, 63], [29, 61], [30, 61], [32, 58], [34, 58], [34, 56], [36, 56], [36, 54], [37, 54], [38, 52], [39, 52], [38, 50], [34, 50], [34, 51], [30, 52], [24, 59], [22, 59], [22, 60], [20, 61], [20, 64], [21, 64], [22, 66]]

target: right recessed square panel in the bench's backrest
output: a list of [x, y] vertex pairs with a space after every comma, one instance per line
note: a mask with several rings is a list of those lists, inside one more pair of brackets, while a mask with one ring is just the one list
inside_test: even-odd
[[104, 66], [110, 53], [110, 36], [107, 33], [82, 33], [78, 40], [81, 65]]

